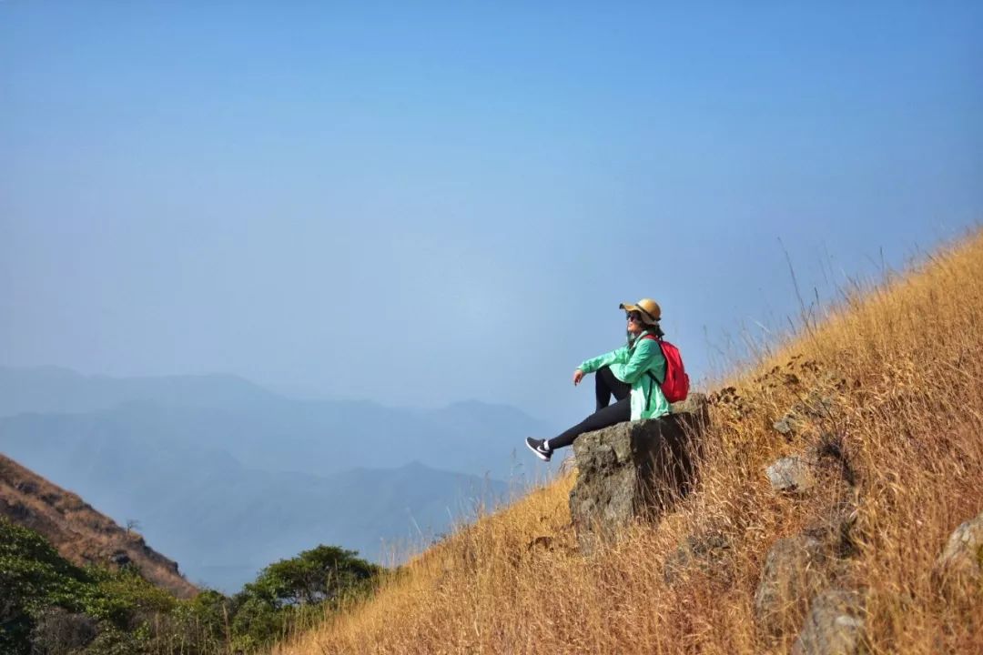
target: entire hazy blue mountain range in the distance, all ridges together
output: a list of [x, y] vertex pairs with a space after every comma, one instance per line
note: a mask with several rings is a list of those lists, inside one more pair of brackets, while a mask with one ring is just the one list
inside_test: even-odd
[[554, 431], [478, 402], [391, 409], [293, 400], [232, 375], [54, 367], [0, 367], [0, 414], [0, 452], [139, 519], [189, 579], [225, 591], [318, 543], [401, 561], [483, 499], [542, 476], [518, 448]]

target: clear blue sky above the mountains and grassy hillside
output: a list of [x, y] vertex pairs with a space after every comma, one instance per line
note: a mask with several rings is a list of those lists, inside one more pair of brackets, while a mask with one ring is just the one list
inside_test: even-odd
[[681, 4], [0, 0], [0, 364], [563, 422], [983, 218], [983, 4]]

